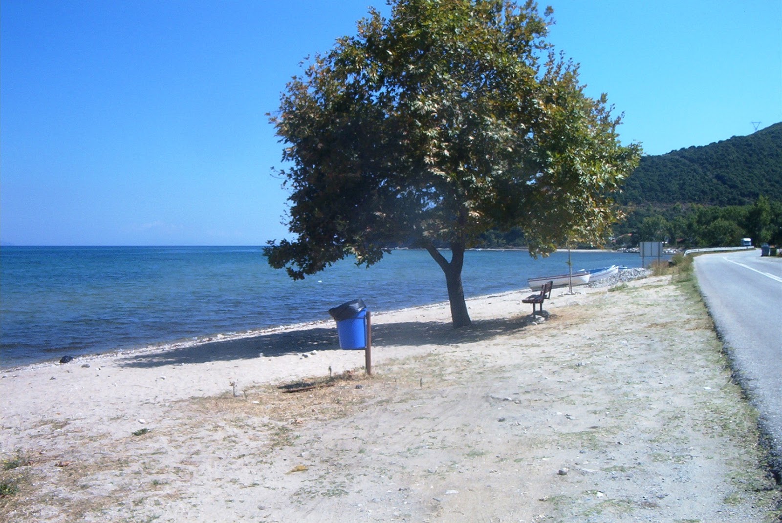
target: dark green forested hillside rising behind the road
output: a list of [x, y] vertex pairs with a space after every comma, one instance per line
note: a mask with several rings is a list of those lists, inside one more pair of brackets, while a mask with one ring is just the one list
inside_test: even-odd
[[618, 196], [622, 205], [747, 205], [782, 201], [782, 123], [748, 136], [644, 156]]

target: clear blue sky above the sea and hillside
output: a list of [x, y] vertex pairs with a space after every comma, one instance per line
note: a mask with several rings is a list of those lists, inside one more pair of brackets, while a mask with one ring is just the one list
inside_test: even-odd
[[[647, 154], [782, 120], [780, 0], [551, 0], [551, 41]], [[384, 0], [3, 0], [0, 240], [282, 238], [265, 113]], [[547, 2], [540, 2], [544, 7]]]

